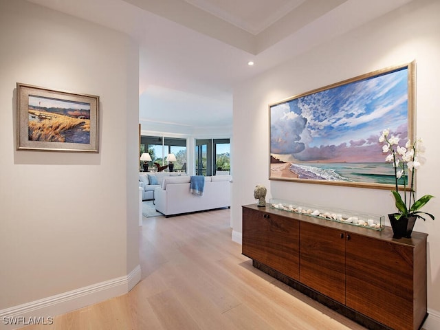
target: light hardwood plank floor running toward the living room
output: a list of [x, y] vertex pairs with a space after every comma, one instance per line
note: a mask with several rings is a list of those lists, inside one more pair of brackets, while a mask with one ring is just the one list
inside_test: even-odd
[[364, 329], [252, 267], [229, 223], [226, 209], [144, 217], [131, 292], [22, 329]]

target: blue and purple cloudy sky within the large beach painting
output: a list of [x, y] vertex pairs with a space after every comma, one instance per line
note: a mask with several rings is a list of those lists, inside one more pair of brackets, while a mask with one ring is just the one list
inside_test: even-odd
[[407, 81], [408, 70], [401, 69], [271, 107], [271, 153], [377, 162], [384, 129], [405, 140], [408, 135]]

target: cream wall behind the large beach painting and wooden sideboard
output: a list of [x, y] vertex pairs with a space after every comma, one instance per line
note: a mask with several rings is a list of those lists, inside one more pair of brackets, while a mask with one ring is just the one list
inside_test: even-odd
[[[267, 104], [376, 69], [409, 63], [413, 60], [417, 61], [417, 135], [423, 137], [428, 159], [427, 164], [417, 174], [417, 194], [421, 196], [429, 193], [440, 198], [437, 170], [440, 164], [439, 14], [440, 1], [412, 1], [404, 8], [331, 40], [326, 45], [302, 54], [236, 88], [232, 145], [234, 168], [232, 238], [234, 240], [239, 241], [241, 238], [241, 205], [256, 202], [253, 198], [256, 184], [263, 184], [268, 188], [267, 199], [276, 197], [379, 214], [395, 211], [393, 198], [388, 190], [269, 181]], [[380, 131], [385, 127], [377, 129]], [[437, 199], [433, 199], [423, 210], [432, 212], [440, 219], [440, 204]], [[438, 311], [440, 311], [438, 221], [419, 220], [415, 227], [416, 231], [429, 234], [430, 319], [433, 317], [439, 319]]]

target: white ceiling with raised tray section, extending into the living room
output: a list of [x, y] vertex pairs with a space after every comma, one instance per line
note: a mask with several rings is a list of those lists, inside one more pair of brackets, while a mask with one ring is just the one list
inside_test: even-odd
[[139, 43], [140, 120], [218, 127], [234, 85], [412, 0], [28, 1]]

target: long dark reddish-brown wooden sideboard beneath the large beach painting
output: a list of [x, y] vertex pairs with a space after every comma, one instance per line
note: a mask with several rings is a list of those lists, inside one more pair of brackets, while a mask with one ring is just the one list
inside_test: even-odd
[[427, 236], [243, 206], [242, 253], [255, 267], [369, 329], [423, 325]]

